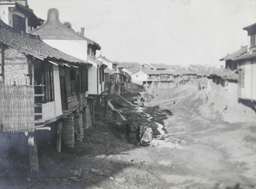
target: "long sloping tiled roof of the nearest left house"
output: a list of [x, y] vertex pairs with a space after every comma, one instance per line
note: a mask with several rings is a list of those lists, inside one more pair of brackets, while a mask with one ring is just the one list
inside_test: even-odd
[[7, 26], [2, 20], [0, 23], [0, 42], [18, 50], [20, 53], [32, 55], [38, 59], [57, 62], [61, 61], [62, 63], [70, 63], [74, 65], [90, 65], [84, 60], [79, 60], [71, 55], [62, 53], [58, 49], [52, 48], [38, 37], [27, 33], [21, 33], [20, 31]]

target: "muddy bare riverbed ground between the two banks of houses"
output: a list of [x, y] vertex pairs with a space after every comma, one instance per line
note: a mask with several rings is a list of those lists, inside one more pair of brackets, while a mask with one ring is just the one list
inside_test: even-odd
[[[224, 122], [206, 90], [192, 84], [151, 92], [154, 99], [143, 109], [113, 96], [113, 106], [133, 125], [131, 143], [125, 122], [108, 111], [73, 149], [58, 153], [49, 142], [38, 144], [39, 173], [30, 173], [26, 150], [2, 145], [0, 188], [256, 188], [255, 123]], [[137, 94], [122, 95], [131, 101]], [[153, 128], [153, 147], [137, 146], [138, 123]], [[158, 123], [169, 135], [160, 138]], [[1, 137], [26, 149], [23, 136]]]

